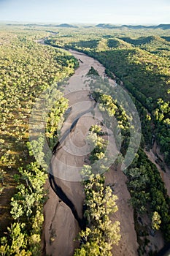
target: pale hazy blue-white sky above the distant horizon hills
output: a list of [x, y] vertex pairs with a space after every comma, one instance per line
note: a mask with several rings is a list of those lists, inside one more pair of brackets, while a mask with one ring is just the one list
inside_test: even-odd
[[0, 20], [42, 23], [170, 23], [170, 0], [0, 0]]

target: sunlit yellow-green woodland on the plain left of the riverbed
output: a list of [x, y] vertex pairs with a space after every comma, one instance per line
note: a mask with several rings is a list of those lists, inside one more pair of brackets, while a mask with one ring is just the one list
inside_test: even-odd
[[[69, 53], [36, 42], [47, 34], [18, 28], [0, 34], [1, 255], [37, 256], [42, 250], [47, 174], [29, 156], [28, 121], [36, 97], [72, 75], [78, 65]], [[55, 107], [47, 117], [46, 136], [52, 148], [53, 127], [63, 121], [66, 99], [61, 97]], [[37, 151], [41, 146], [36, 143]]]

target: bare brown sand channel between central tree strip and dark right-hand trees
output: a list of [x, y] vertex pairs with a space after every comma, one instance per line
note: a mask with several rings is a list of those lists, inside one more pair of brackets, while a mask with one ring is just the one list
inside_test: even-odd
[[113, 255], [137, 255], [138, 244], [136, 241], [136, 232], [134, 230], [134, 210], [128, 204], [128, 200], [131, 198], [125, 182], [126, 176], [117, 168], [111, 168], [106, 176], [106, 184], [114, 184], [114, 194], [117, 195], [118, 211], [112, 217], [112, 219], [120, 221], [120, 234], [121, 240], [118, 246], [113, 246]]

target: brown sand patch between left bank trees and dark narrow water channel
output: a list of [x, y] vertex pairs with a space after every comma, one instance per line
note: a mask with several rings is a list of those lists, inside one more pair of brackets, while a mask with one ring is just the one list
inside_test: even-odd
[[49, 187], [49, 199], [45, 204], [45, 255], [71, 256], [75, 247], [74, 238], [80, 231], [72, 211], [65, 203], [61, 202]]

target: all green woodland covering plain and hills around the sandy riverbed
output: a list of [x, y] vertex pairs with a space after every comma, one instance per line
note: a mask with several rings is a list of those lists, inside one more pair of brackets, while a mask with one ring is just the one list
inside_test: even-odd
[[[134, 208], [138, 254], [155, 255], [148, 249], [150, 233], [155, 236], [161, 230], [164, 244], [170, 242], [170, 198], [159, 171], [161, 168], [164, 173], [170, 172], [170, 29], [109, 24], [83, 28], [61, 25], [1, 26], [0, 253], [41, 255], [47, 172], [39, 162], [45, 158], [42, 153], [45, 141], [39, 138], [28, 142], [28, 121], [36, 97], [56, 84], [61, 98], [50, 109], [45, 134], [53, 149], [58, 142], [58, 125], [63, 123], [64, 113], [69, 107], [59, 85], [79, 66], [78, 60], [68, 51], [74, 49], [103, 64], [107, 78], [116, 80], [117, 85], [128, 92], [138, 110], [142, 140], [134, 161], [124, 174], [131, 195], [129, 204]], [[41, 39], [45, 40], [45, 45], [39, 43]], [[85, 75], [98, 77], [98, 72], [91, 67]], [[133, 127], [128, 121], [131, 119], [129, 113], [114, 99], [112, 86], [104, 84], [90, 83], [90, 89], [97, 88], [98, 92], [92, 97], [107, 120], [115, 116], [118, 121], [123, 141], [114, 168], [119, 170], [117, 166], [128, 151]], [[112, 124], [109, 127], [115, 132]], [[81, 172], [86, 229], [80, 231], [77, 238], [80, 246], [74, 255], [112, 255], [112, 245], [121, 239], [120, 223], [110, 219], [110, 215], [118, 210], [117, 196], [105, 186], [104, 175], [96, 174], [92, 167], [98, 159], [108, 157], [105, 154], [107, 140], [103, 136], [100, 126], [90, 128], [88, 142], [93, 143], [94, 149], [88, 156], [90, 165], [85, 165]], [[152, 148], [156, 148], [157, 165], [147, 157]], [[38, 162], [33, 157], [35, 150], [39, 155]], [[149, 218], [147, 225], [149, 223], [150, 230], [147, 225], [139, 223], [139, 219], [146, 217]]]

